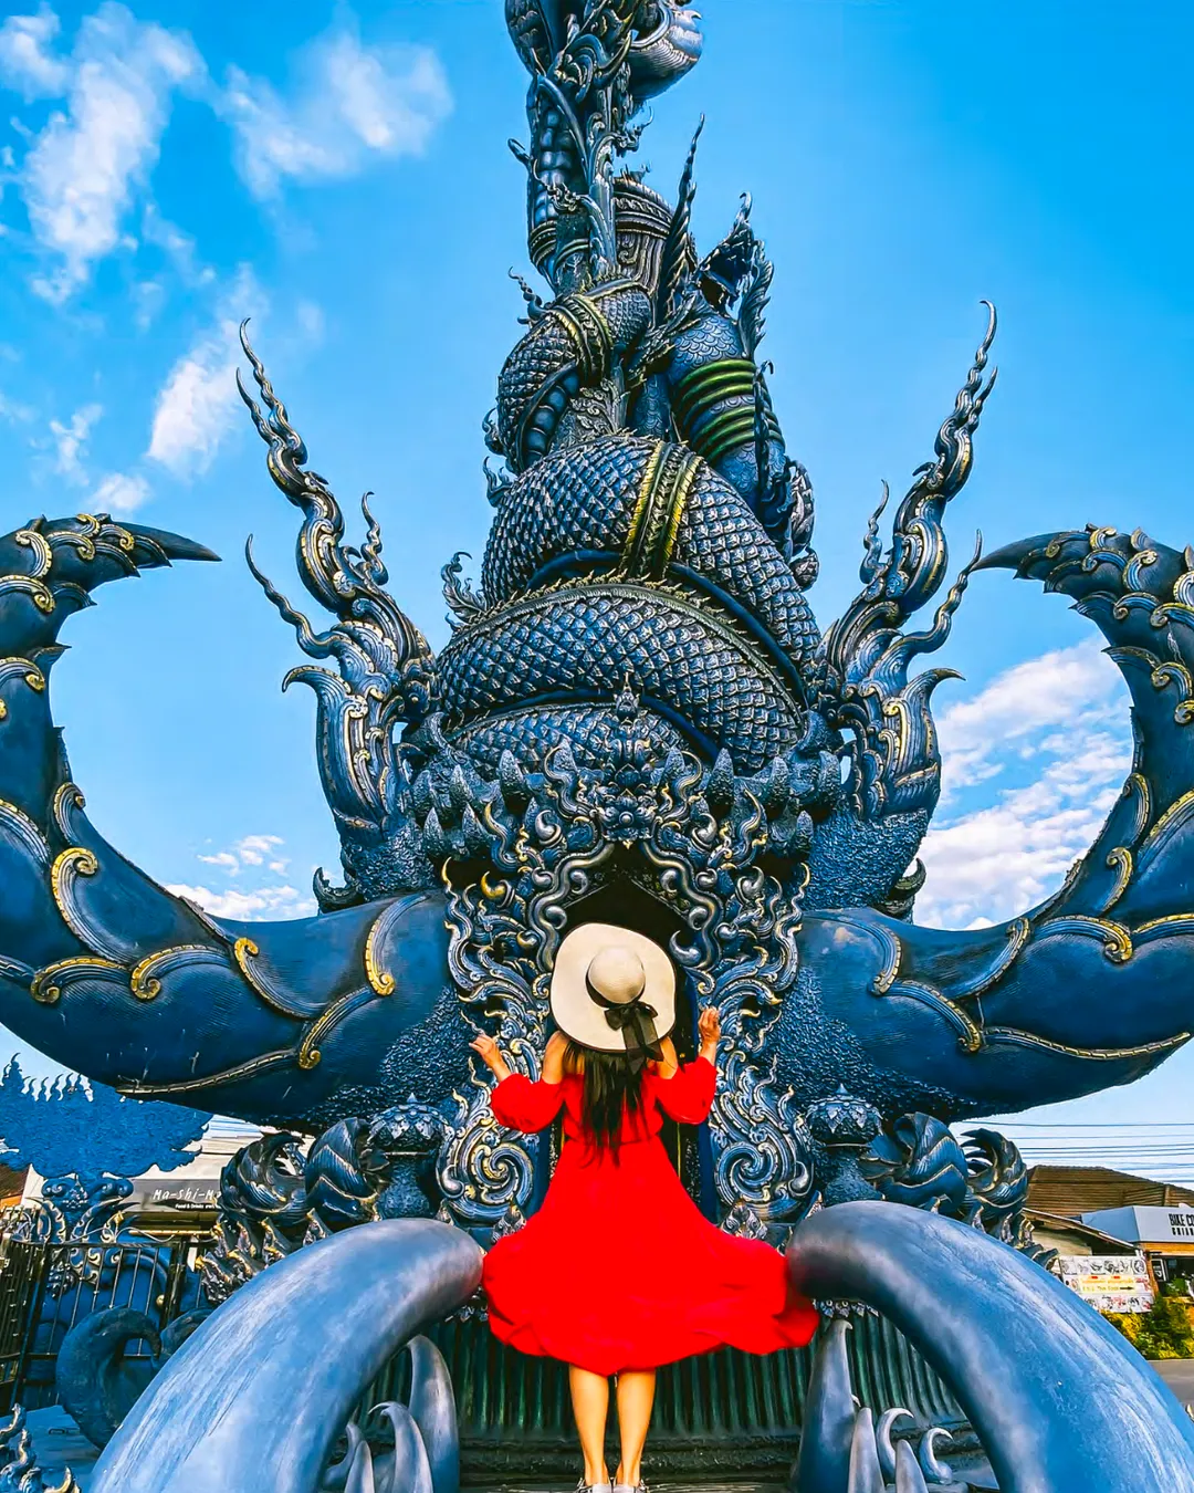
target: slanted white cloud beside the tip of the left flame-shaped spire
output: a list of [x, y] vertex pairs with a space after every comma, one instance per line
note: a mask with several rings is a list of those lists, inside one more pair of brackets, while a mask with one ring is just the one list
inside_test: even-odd
[[237, 327], [251, 312], [260, 312], [261, 305], [263, 296], [252, 275], [242, 270], [224, 299], [215, 325], [203, 331], [170, 369], [154, 409], [146, 455], [175, 476], [206, 470], [236, 424], [240, 412], [236, 393], [240, 357]]

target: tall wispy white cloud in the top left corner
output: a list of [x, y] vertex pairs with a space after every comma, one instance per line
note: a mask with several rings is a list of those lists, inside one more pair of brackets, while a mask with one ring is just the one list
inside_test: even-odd
[[97, 260], [133, 242], [122, 222], [157, 163], [170, 96], [206, 69], [185, 33], [143, 24], [113, 0], [84, 18], [67, 60], [46, 51], [55, 31], [45, 7], [6, 22], [0, 78], [27, 94], [66, 96], [19, 175], [33, 234], [58, 261], [33, 288], [57, 303]]

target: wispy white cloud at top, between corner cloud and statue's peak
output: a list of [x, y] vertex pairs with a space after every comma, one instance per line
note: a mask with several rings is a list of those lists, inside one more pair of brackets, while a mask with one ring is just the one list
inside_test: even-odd
[[298, 87], [284, 99], [263, 78], [230, 67], [221, 112], [236, 133], [237, 169], [263, 199], [285, 178], [310, 182], [360, 172], [370, 152], [421, 155], [452, 96], [425, 46], [364, 46], [340, 28], [300, 57]]

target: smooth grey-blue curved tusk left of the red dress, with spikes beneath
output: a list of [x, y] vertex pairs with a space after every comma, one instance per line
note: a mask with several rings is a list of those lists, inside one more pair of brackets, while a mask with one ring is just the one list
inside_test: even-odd
[[[363, 1224], [281, 1260], [169, 1360], [96, 1465], [94, 1493], [318, 1493], [370, 1383], [479, 1281], [479, 1247], [430, 1220]], [[410, 1439], [434, 1448], [424, 1481], [454, 1493], [437, 1480], [443, 1415], [427, 1418], [421, 1390], [416, 1359]]]

